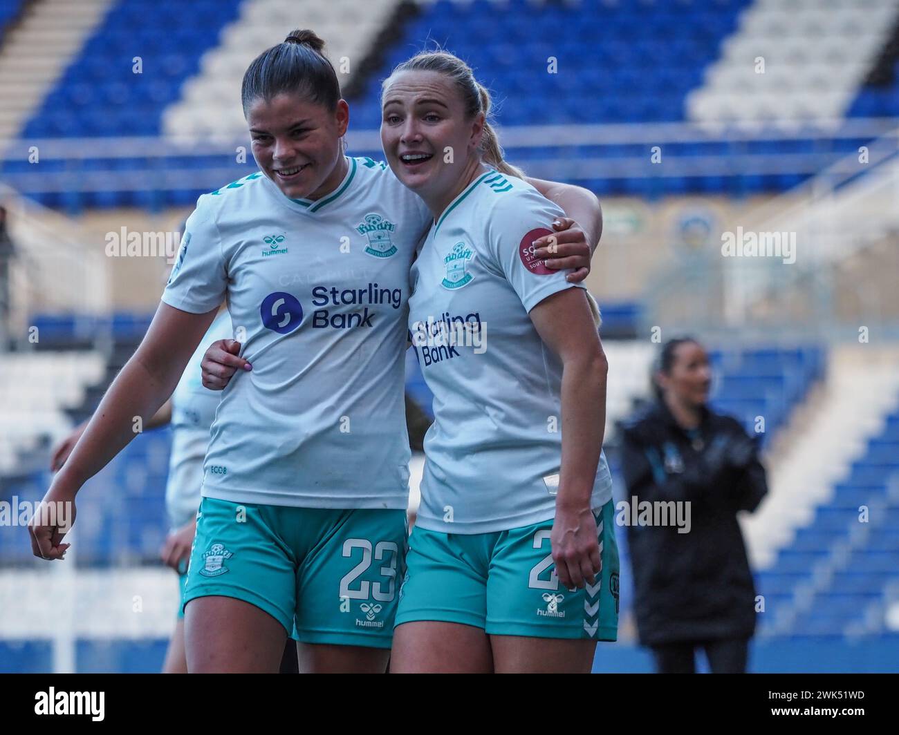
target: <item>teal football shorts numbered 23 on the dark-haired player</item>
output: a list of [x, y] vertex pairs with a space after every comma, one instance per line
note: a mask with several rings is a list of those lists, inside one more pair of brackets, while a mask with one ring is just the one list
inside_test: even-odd
[[407, 522], [400, 509], [314, 509], [203, 498], [183, 606], [221, 595], [300, 642], [390, 648]]

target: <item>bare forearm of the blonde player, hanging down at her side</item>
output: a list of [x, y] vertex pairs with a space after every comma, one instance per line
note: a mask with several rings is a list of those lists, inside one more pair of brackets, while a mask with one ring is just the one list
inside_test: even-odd
[[590, 508], [605, 433], [608, 371], [601, 351], [565, 362], [558, 506]]

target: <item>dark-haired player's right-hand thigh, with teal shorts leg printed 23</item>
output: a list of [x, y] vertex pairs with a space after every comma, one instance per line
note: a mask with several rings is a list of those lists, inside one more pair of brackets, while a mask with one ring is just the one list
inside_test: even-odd
[[[383, 672], [405, 557], [405, 510], [304, 513], [318, 538], [298, 570], [296, 624], [305, 644], [298, 649], [300, 671]], [[376, 651], [354, 656], [347, 648]]]

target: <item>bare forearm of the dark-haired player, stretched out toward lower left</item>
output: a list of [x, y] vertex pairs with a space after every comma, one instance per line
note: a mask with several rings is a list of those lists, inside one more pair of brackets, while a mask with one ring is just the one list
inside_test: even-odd
[[156, 376], [137, 355], [129, 359], [93, 412], [53, 485], [74, 496], [138, 435], [143, 422], [153, 417], [172, 394], [176, 382], [176, 375], [167, 379]]

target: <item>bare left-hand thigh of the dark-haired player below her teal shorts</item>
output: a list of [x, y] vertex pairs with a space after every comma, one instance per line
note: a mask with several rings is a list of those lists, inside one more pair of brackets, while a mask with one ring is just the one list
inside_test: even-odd
[[191, 674], [277, 673], [286, 640], [280, 621], [242, 599], [194, 598], [184, 609]]

